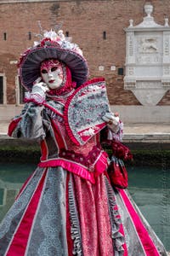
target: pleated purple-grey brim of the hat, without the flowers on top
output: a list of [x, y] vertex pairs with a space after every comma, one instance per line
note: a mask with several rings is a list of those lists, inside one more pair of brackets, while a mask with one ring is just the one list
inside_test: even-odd
[[33, 82], [41, 76], [42, 61], [48, 59], [63, 61], [71, 69], [72, 80], [77, 82], [77, 86], [87, 81], [88, 63], [81, 55], [54, 46], [38, 47], [26, 53], [20, 64], [20, 81], [27, 90], [31, 91]]

